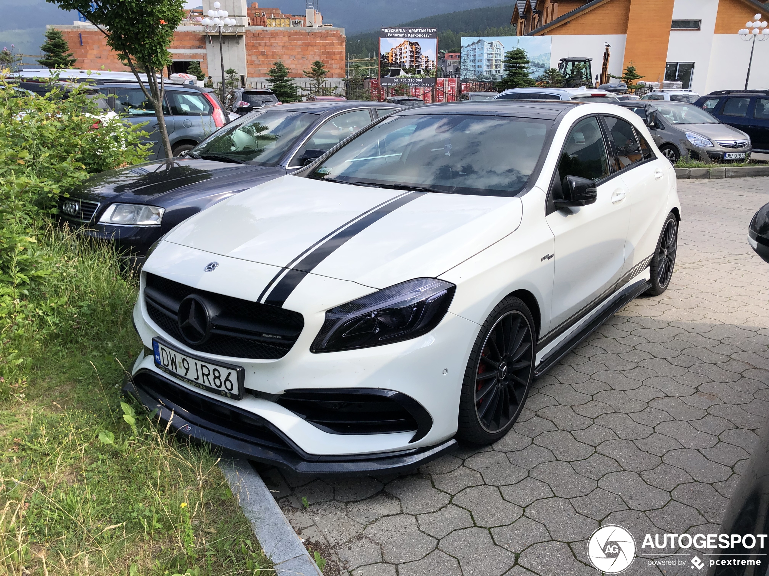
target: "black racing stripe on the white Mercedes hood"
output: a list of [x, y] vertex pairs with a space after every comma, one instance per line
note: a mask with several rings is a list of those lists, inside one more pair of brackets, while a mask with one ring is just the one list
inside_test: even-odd
[[[387, 216], [394, 210], [398, 210], [398, 208], [404, 206], [404, 204], [408, 204], [412, 200], [424, 196], [424, 194], [427, 193], [407, 192], [406, 194], [394, 197], [391, 200], [380, 204], [378, 207], [368, 210], [368, 212], [361, 214], [361, 216], [355, 217], [355, 219], [351, 220], [352, 223], [345, 223], [345, 225], [340, 227], [341, 229], [338, 228], [325, 237], [325, 241], [321, 240], [320, 242], [315, 243], [315, 247], [311, 248], [309, 251], [305, 250], [303, 255], [295, 258], [288, 264], [288, 266], [285, 266], [285, 268], [276, 274], [275, 278], [273, 278], [265, 288], [265, 292], [261, 293], [258, 301], [261, 302], [261, 298], [277, 280], [275, 288], [268, 294], [265, 303], [272, 304], [273, 306], [283, 306], [283, 303], [285, 303], [286, 299], [291, 295], [298, 283], [300, 283], [301, 280], [315, 268], [315, 266], [318, 266], [319, 263], [331, 256], [331, 253], [334, 253], [338, 247], [341, 247], [342, 244], [362, 230], [371, 226], [371, 224], [381, 220], [381, 218]], [[299, 260], [299, 258], [301, 258], [301, 260]], [[288, 270], [289, 268], [291, 269]], [[285, 270], [288, 270], [288, 272], [278, 280]]]

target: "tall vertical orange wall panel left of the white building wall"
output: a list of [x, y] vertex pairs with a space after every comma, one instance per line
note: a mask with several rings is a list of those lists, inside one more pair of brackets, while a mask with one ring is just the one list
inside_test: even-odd
[[622, 69], [632, 61], [645, 81], [664, 80], [672, 20], [672, 0], [631, 0]]

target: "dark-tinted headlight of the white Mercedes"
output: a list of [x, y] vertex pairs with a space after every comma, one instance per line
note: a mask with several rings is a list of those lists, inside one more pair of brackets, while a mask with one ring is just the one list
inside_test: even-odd
[[382, 346], [430, 332], [448, 310], [454, 284], [415, 278], [326, 312], [311, 352]]

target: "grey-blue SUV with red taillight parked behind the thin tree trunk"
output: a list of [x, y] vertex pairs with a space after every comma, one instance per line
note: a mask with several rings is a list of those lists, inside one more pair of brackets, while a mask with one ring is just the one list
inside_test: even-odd
[[[132, 124], [149, 123], [142, 128], [150, 133], [152, 154], [148, 160], [165, 157], [155, 108], [138, 82], [98, 81], [96, 88], [107, 97], [109, 108], [125, 115]], [[227, 124], [225, 109], [214, 91], [188, 84], [165, 84], [163, 115], [174, 156], [192, 150]]]

